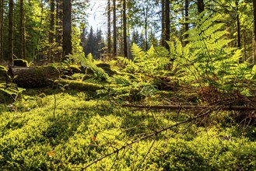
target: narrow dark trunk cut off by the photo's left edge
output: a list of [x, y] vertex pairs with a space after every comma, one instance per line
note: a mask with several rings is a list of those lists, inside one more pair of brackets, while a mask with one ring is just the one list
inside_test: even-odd
[[0, 0], [0, 62], [4, 61], [4, 0]]

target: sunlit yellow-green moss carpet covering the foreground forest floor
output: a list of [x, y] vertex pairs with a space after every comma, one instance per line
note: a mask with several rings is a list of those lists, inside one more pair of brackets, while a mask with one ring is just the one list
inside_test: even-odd
[[254, 109], [198, 106], [200, 93], [184, 85], [138, 91], [91, 82], [26, 89], [2, 102], [0, 169], [256, 169]]

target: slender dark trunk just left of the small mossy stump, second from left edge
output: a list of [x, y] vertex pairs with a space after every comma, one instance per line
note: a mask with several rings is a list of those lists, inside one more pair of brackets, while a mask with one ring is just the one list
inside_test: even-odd
[[13, 0], [9, 0], [8, 63], [13, 65]]

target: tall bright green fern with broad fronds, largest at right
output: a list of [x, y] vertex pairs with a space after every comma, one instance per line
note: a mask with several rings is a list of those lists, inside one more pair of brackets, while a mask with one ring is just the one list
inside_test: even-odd
[[238, 64], [241, 50], [229, 47], [233, 41], [219, 14], [202, 12], [189, 22], [195, 25], [188, 30], [188, 44], [183, 47], [177, 38], [169, 41], [170, 55], [175, 58], [173, 71], [178, 77], [195, 86], [224, 86], [233, 89], [235, 79], [250, 75], [247, 64]]

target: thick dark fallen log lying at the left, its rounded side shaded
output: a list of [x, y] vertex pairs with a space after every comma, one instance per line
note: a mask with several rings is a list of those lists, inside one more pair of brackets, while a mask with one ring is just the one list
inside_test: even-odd
[[13, 82], [25, 89], [50, 86], [60, 77], [58, 69], [52, 66], [9, 67], [7, 74], [10, 78], [6, 83]]

